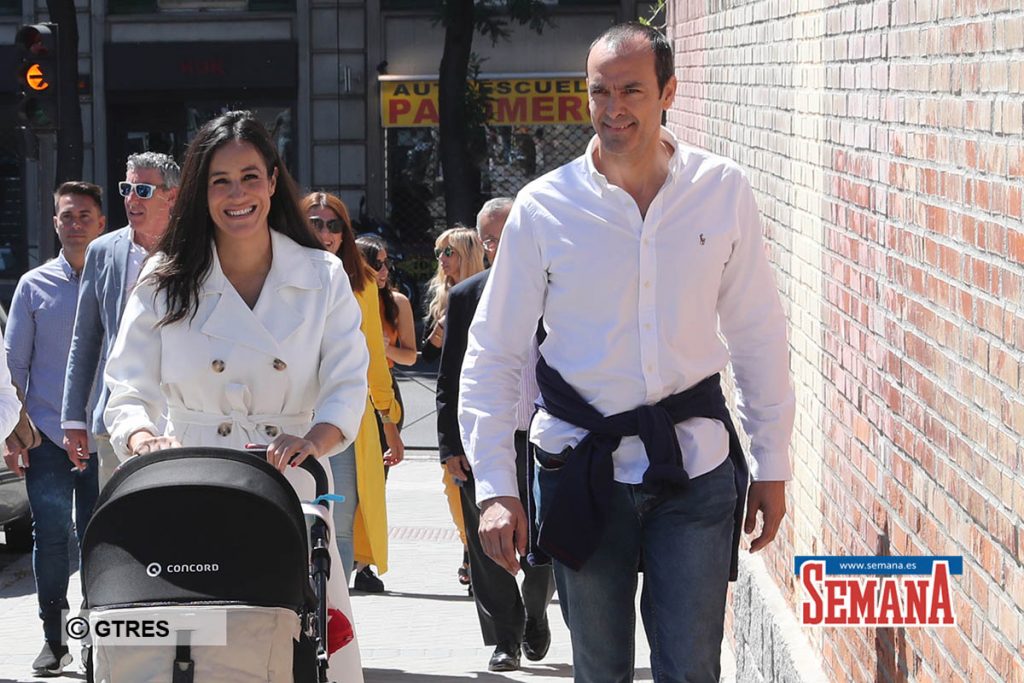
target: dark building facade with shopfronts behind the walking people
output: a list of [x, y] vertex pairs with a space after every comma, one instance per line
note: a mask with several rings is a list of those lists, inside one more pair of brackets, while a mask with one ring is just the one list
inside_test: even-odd
[[[424, 119], [407, 126], [388, 120], [387, 112], [382, 116], [381, 109], [382, 84], [399, 89], [422, 88], [431, 81], [435, 85], [443, 45], [443, 29], [434, 19], [436, 0], [75, 4], [83, 176], [106, 188], [112, 225], [124, 224], [113, 188], [128, 154], [150, 150], [180, 159], [205, 121], [224, 111], [248, 109], [271, 130], [300, 186], [339, 194], [356, 216], [361, 206], [367, 215], [392, 220], [397, 206], [398, 222], [425, 210], [432, 221], [428, 227], [442, 226], [433, 222], [443, 215], [435, 200], [441, 181], [434, 154], [436, 124]], [[515, 27], [510, 40], [494, 45], [477, 36], [475, 52], [485, 76], [536, 77], [536, 87], [542, 89], [557, 87], [553, 79], [578, 80], [590, 39], [646, 9], [635, 0], [556, 0], [547, 7], [553, 25], [541, 35]], [[0, 0], [0, 59], [13, 65], [18, 26], [46, 19], [44, 2]], [[13, 69], [0, 70], [0, 287], [7, 285], [7, 296], [17, 276], [45, 256], [39, 253], [45, 244], [40, 234], [49, 229], [40, 227], [24, 202], [40, 188], [31, 167], [27, 172], [15, 131], [15, 89]], [[538, 96], [543, 100], [544, 93]], [[485, 194], [514, 193], [517, 183], [562, 160], [589, 136], [586, 122], [575, 116], [578, 109], [559, 112], [557, 103], [543, 101], [538, 106], [540, 117], [527, 116], [524, 127], [516, 125], [521, 121], [513, 115], [520, 105], [513, 102], [507, 125], [490, 133], [494, 159], [488, 165], [504, 164], [513, 171], [495, 187], [484, 187]], [[565, 137], [550, 133], [566, 124], [575, 128], [569, 136], [572, 144], [549, 143]], [[419, 206], [424, 203], [428, 206]]]

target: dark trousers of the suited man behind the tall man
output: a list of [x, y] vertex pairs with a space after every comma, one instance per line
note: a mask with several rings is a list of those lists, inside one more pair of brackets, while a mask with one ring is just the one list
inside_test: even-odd
[[[526, 432], [515, 433], [516, 474], [519, 499], [526, 500]], [[480, 618], [480, 634], [485, 645], [519, 643], [526, 617], [544, 616], [555, 580], [550, 566], [531, 567], [522, 559], [522, 595], [516, 578], [498, 566], [483, 552], [480, 536], [480, 509], [476, 507], [476, 485], [473, 475], [462, 486], [462, 515], [466, 522], [469, 545], [469, 572], [473, 580], [473, 597]]]

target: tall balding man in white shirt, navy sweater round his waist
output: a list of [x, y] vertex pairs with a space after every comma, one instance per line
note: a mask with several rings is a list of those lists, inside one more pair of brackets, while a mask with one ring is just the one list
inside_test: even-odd
[[[770, 543], [791, 477], [786, 323], [754, 196], [735, 164], [662, 128], [673, 69], [648, 27], [593, 43], [597, 135], [519, 193], [460, 385], [481, 543], [515, 573], [527, 525], [508, 434], [543, 316], [535, 550], [554, 558], [588, 683], [632, 680], [638, 569], [655, 680], [718, 680], [740, 527], [753, 533], [760, 512], [751, 550]], [[719, 383], [730, 360], [750, 462]]]

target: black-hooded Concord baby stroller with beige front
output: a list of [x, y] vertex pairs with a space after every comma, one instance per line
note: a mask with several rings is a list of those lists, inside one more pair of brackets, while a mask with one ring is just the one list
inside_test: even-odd
[[[82, 544], [90, 681], [327, 680], [328, 504], [300, 503], [265, 456], [173, 449], [117, 470]], [[326, 495], [321, 464], [302, 467]]]

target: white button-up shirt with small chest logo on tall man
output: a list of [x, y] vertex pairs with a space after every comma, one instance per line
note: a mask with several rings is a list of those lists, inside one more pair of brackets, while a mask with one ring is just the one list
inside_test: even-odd
[[[754, 195], [734, 163], [682, 145], [666, 129], [662, 136], [674, 153], [646, 216], [594, 166], [596, 138], [516, 198], [470, 328], [459, 392], [478, 502], [517, 495], [508, 435], [542, 315], [541, 353], [603, 415], [655, 403], [731, 358], [751, 474], [791, 478], [786, 322]], [[717, 421], [687, 420], [676, 433], [690, 477], [728, 455]], [[585, 435], [543, 409], [530, 428], [530, 440], [551, 453]], [[636, 436], [622, 440], [613, 462], [615, 480], [626, 483], [639, 483], [649, 465]]]

